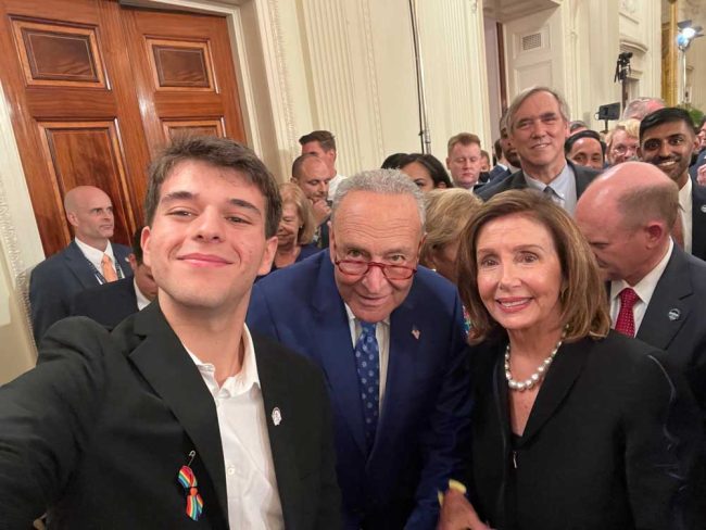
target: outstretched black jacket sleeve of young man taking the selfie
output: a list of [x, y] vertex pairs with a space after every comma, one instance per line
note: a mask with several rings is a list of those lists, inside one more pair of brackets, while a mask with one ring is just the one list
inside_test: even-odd
[[0, 388], [3, 528], [30, 528], [61, 496], [99, 412], [101, 336], [85, 319], [59, 324], [41, 343], [38, 366]]

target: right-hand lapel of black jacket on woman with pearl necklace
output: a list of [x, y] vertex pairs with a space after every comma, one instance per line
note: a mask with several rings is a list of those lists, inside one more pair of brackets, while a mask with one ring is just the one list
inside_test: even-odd
[[562, 405], [573, 382], [583, 370], [583, 365], [592, 348], [591, 339], [583, 339], [559, 349], [546, 378], [537, 394], [532, 412], [522, 433], [526, 444]]

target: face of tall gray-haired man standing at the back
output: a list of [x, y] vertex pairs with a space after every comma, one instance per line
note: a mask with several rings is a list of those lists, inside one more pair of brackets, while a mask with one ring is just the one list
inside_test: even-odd
[[549, 92], [534, 92], [512, 116], [509, 138], [531, 177], [556, 177], [564, 165], [568, 123]]

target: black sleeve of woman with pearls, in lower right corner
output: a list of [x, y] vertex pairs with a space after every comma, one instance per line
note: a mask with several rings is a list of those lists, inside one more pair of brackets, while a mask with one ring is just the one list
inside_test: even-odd
[[694, 526], [693, 491], [703, 429], [685, 381], [646, 355], [626, 381], [626, 475], [635, 528], [703, 528]]

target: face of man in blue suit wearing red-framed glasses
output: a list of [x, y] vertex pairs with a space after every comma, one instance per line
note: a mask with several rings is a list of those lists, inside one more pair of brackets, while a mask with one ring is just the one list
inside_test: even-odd
[[[416, 268], [421, 243], [419, 211], [412, 195], [351, 191], [336, 211], [331, 261], [360, 260]], [[362, 276], [336, 267], [336, 285], [353, 314], [365, 321], [387, 318], [407, 296], [414, 277], [388, 280], [379, 267]]]

